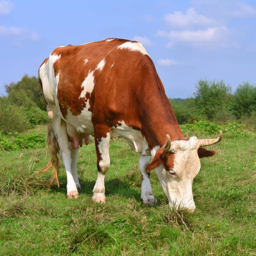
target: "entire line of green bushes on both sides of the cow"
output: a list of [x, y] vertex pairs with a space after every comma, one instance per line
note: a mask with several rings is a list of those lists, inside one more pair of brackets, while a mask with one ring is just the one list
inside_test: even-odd
[[[228, 120], [255, 125], [256, 87], [239, 84], [232, 93], [224, 81], [199, 80], [194, 97], [170, 99], [179, 124], [200, 120], [224, 123]], [[22, 132], [48, 123], [46, 105], [38, 79], [25, 75], [17, 83], [5, 85], [7, 96], [0, 97], [0, 132]]]

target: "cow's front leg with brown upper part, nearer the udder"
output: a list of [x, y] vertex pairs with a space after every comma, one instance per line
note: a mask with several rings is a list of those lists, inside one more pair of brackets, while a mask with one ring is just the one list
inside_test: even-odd
[[96, 203], [105, 203], [105, 174], [110, 165], [109, 143], [110, 128], [96, 126], [94, 127], [95, 146], [97, 154], [98, 177], [93, 188], [93, 201]]

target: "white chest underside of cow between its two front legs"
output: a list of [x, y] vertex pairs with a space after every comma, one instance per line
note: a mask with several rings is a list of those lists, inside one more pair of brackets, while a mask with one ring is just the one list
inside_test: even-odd
[[116, 127], [112, 127], [111, 138], [116, 137], [125, 140], [135, 152], [143, 153], [146, 156], [151, 155], [148, 143], [143, 138], [141, 132], [129, 127], [123, 120], [119, 121]]

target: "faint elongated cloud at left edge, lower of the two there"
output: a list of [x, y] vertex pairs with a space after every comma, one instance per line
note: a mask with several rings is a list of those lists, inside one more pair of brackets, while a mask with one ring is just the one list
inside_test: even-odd
[[30, 39], [32, 41], [38, 41], [40, 39], [40, 36], [36, 32], [30, 31], [29, 29], [15, 26], [7, 27], [3, 25], [0, 25], [0, 36], [15, 36], [23, 40]]

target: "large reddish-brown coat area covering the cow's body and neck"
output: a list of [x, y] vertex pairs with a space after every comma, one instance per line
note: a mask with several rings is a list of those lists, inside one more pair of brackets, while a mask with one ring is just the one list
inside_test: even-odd
[[[139, 51], [117, 48], [125, 42], [128, 40], [69, 45], [52, 52], [52, 55], [61, 55], [53, 68], [55, 76], [59, 74], [57, 97], [62, 115], [66, 117], [69, 109], [77, 116], [86, 104], [90, 104], [94, 127], [105, 124], [112, 128], [123, 120], [129, 127], [141, 131], [150, 149], [163, 146], [166, 134], [172, 141], [186, 139], [153, 61]], [[84, 59], [88, 59], [86, 65]], [[103, 59], [103, 69], [96, 70]], [[79, 99], [83, 90], [81, 84], [92, 71], [93, 91]], [[99, 134], [105, 135], [104, 131], [99, 131]]]

